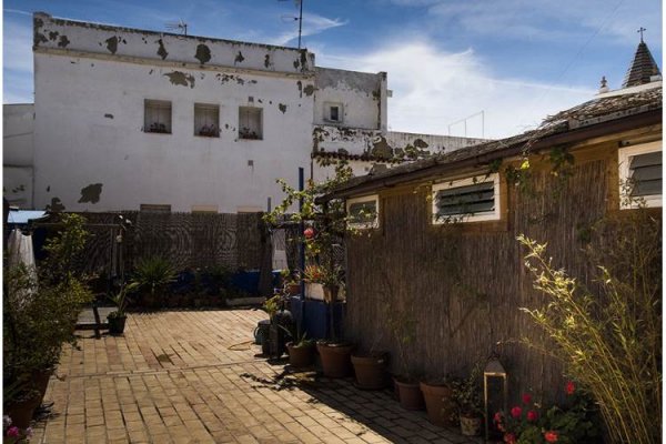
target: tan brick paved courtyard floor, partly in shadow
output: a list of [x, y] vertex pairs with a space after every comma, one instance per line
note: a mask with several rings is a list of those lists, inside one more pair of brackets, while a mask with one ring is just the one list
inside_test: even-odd
[[[280, 381], [256, 355], [252, 310], [131, 314], [124, 336], [81, 332], [46, 400], [33, 443], [478, 443], [352, 380]], [[281, 389], [281, 390], [279, 390]]]

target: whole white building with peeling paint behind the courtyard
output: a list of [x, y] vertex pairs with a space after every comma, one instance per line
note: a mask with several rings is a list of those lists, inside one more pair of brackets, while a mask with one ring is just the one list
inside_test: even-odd
[[390, 135], [386, 73], [317, 68], [307, 50], [33, 20], [36, 208], [262, 211], [275, 179], [325, 174], [329, 151], [364, 155], [363, 173], [416, 139], [476, 142]]

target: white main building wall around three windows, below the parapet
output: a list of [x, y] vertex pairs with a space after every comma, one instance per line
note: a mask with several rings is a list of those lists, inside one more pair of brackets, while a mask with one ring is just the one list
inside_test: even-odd
[[[58, 198], [70, 211], [137, 210], [141, 203], [265, 209], [282, 193], [275, 178], [297, 183], [309, 167], [309, 78], [175, 69], [36, 52], [36, 204]], [[192, 81], [174, 84], [168, 74]], [[242, 84], [239, 83], [242, 80]], [[239, 105], [263, 108], [263, 140], [238, 139]], [[144, 99], [172, 102], [172, 134], [145, 133]], [[220, 105], [220, 138], [193, 135], [195, 102]], [[279, 108], [285, 105], [284, 112]], [[252, 162], [253, 165], [249, 163]], [[100, 201], [79, 202], [102, 184]]]

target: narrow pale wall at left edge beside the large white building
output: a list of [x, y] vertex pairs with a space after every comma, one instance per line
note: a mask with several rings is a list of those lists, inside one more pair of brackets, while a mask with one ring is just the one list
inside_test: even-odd
[[34, 105], [2, 107], [2, 194], [11, 205], [32, 209]]

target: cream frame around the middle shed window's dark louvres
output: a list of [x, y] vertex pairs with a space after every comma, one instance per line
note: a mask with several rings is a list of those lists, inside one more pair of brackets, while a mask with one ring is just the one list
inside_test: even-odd
[[[493, 182], [493, 198], [495, 199], [495, 209], [492, 212], [483, 212], [477, 214], [452, 214], [446, 218], [437, 218], [437, 192], [441, 190], [451, 190], [454, 188], [476, 185], [480, 183]], [[502, 202], [500, 199], [500, 174], [478, 174], [465, 179], [447, 180], [433, 184], [432, 193], [432, 223], [433, 225], [443, 225], [455, 222], [484, 222], [498, 221], [502, 218]]]

